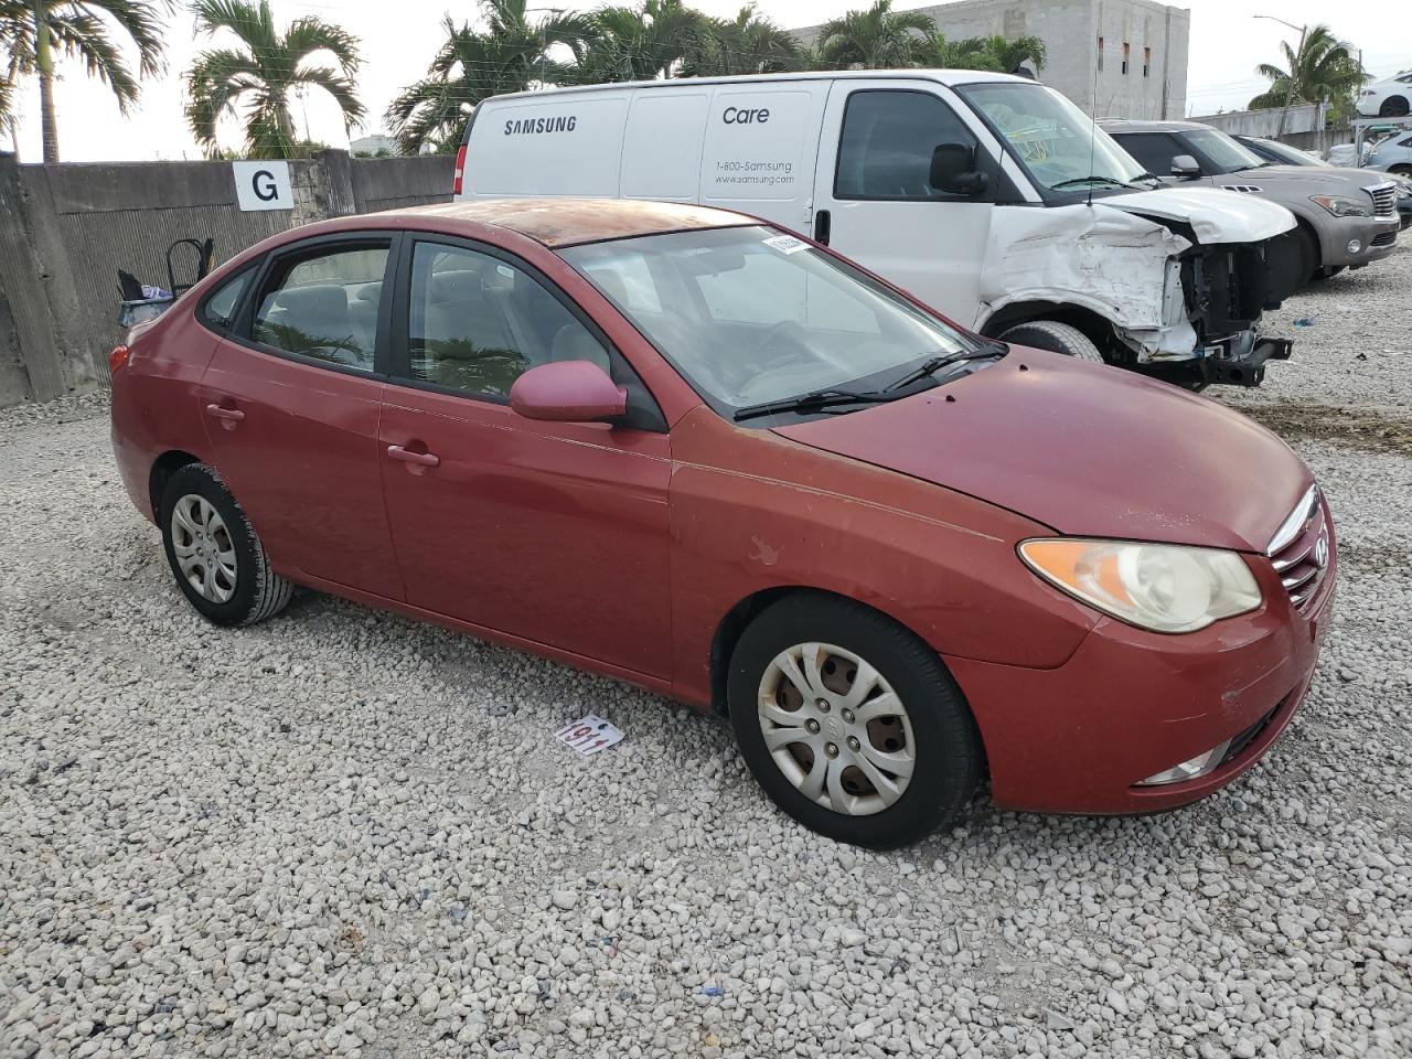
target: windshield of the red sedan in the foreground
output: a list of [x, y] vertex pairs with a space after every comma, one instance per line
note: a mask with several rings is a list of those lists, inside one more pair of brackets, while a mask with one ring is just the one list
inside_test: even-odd
[[559, 253], [727, 417], [822, 390], [877, 391], [928, 357], [980, 349], [772, 227], [675, 232]]

